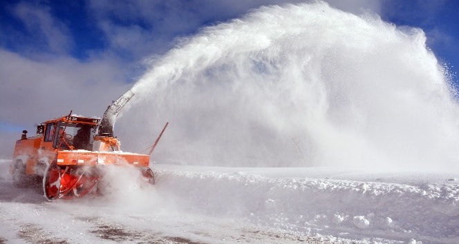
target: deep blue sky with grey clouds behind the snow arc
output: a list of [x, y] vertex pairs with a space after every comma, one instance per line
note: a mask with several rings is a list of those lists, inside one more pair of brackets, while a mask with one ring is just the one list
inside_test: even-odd
[[[149, 57], [164, 54], [180, 37], [241, 17], [253, 8], [301, 2], [2, 1], [0, 144], [9, 145], [10, 136], [22, 128], [33, 132], [32, 123], [71, 109], [100, 116], [140, 77]], [[453, 82], [459, 84], [458, 1], [328, 3], [355, 14], [369, 10], [397, 26], [422, 28], [427, 45], [440, 62], [447, 63]]]

